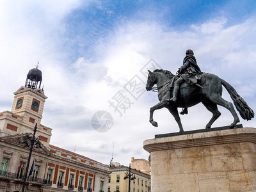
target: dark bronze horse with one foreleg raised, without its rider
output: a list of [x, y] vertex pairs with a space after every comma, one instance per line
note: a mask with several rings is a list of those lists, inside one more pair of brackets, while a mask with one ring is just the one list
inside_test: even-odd
[[202, 102], [205, 108], [207, 108], [212, 113], [212, 118], [209, 123], [206, 125], [205, 129], [211, 128], [211, 125], [215, 122], [215, 120], [221, 115], [220, 111], [218, 111], [217, 105], [223, 106], [227, 108], [232, 116], [234, 117], [234, 122], [230, 125], [230, 129], [234, 128], [237, 123], [240, 122], [237, 113], [231, 102], [224, 100], [221, 97], [222, 94], [222, 86], [223, 85], [228, 93], [230, 94], [231, 99], [233, 100], [237, 111], [239, 111], [241, 117], [244, 120], [251, 120], [254, 117], [253, 110], [246, 104], [242, 97], [240, 97], [236, 90], [230, 86], [226, 81], [221, 79], [214, 74], [203, 74], [201, 86], [204, 88], [200, 88], [200, 86], [189, 85], [184, 82], [180, 85], [180, 91], [177, 95], [177, 101], [170, 101], [170, 88], [169, 83], [173, 81], [175, 77], [168, 70], [154, 70], [151, 72], [148, 70], [148, 79], [146, 90], [152, 90], [154, 84], [157, 84], [158, 90], [158, 99], [159, 103], [150, 108], [150, 119], [149, 122], [157, 127], [157, 122], [153, 120], [153, 113], [156, 109], [167, 108], [170, 113], [174, 116], [176, 122], [179, 125], [180, 132], [183, 132], [183, 127], [180, 122], [180, 117], [177, 108], [189, 108], [191, 106], [195, 106], [196, 104]]

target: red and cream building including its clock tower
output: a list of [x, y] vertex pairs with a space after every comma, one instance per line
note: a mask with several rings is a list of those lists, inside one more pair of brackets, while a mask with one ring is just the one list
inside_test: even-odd
[[42, 72], [30, 70], [25, 86], [14, 93], [12, 110], [0, 113], [0, 192], [21, 191], [29, 156], [24, 143], [36, 125], [41, 148], [33, 149], [26, 191], [107, 191], [106, 164], [50, 145], [52, 129], [41, 124], [47, 99], [41, 81]]

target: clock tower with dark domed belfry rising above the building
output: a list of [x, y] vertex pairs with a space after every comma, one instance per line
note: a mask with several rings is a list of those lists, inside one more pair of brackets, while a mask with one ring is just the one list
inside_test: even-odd
[[42, 72], [37, 67], [29, 70], [25, 85], [14, 93], [12, 110], [0, 113], [0, 136], [33, 133], [37, 123], [36, 137], [49, 147], [52, 129], [41, 124], [47, 99], [41, 83]]

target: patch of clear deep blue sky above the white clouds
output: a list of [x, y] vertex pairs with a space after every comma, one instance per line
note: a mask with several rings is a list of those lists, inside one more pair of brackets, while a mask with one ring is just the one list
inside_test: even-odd
[[[93, 54], [93, 45], [127, 21], [159, 22], [170, 30], [226, 18], [227, 26], [255, 15], [255, 1], [100, 1], [76, 8], [63, 19], [70, 58]], [[246, 10], [246, 12], [244, 12]], [[73, 49], [74, 48], [74, 49]]]

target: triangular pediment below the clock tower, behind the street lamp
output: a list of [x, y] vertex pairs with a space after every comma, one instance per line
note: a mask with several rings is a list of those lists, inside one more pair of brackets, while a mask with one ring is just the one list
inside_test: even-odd
[[[0, 137], [0, 141], [5, 141], [6, 143], [24, 147], [23, 141], [25, 140], [25, 138], [28, 138], [28, 137], [32, 138], [33, 134], [25, 133], [25, 134], [16, 134], [16, 135], [12, 135], [12, 136], [3, 136], [3, 137]], [[28, 142], [28, 144], [30, 146], [30, 142]], [[51, 155], [51, 152], [44, 146], [44, 144], [42, 142], [40, 142], [40, 145], [42, 148], [35, 148], [35, 145], [34, 145], [33, 150], [35, 150], [36, 152], [41, 152], [43, 154]]]

